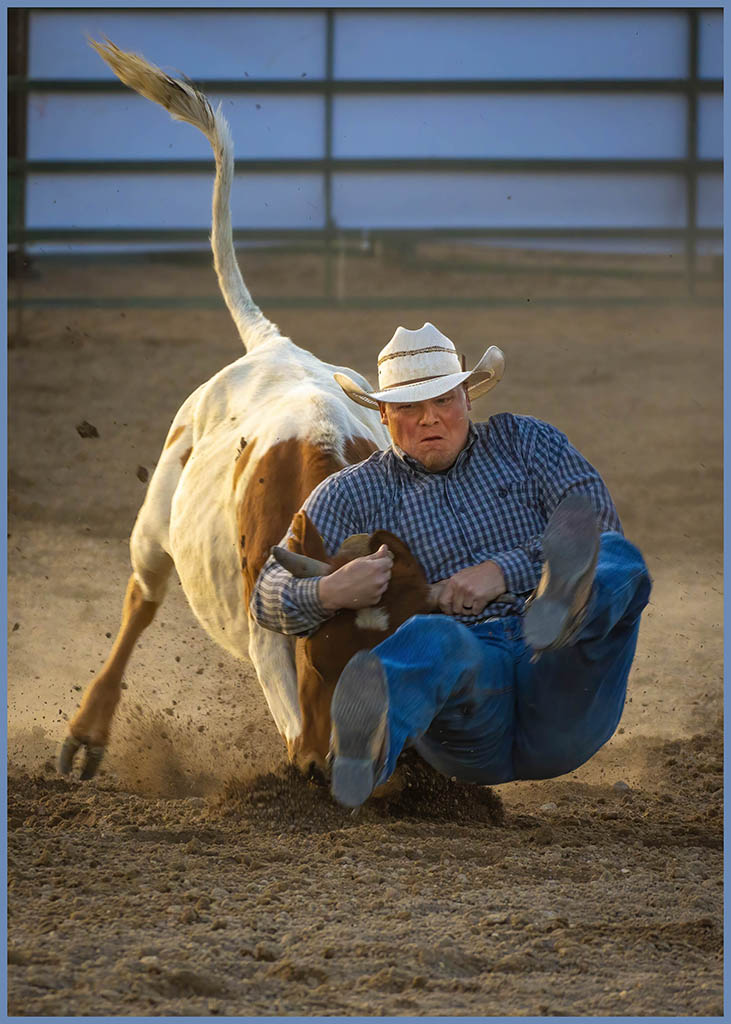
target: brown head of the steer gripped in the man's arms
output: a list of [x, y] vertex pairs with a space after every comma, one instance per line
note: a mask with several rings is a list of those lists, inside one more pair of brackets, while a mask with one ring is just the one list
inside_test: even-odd
[[333, 691], [353, 654], [368, 650], [391, 636], [412, 615], [428, 612], [429, 584], [419, 561], [406, 545], [386, 529], [347, 538], [334, 557], [329, 558], [322, 539], [305, 512], [293, 520], [289, 549], [296, 554], [329, 562], [334, 568], [362, 555], [388, 546], [393, 567], [388, 588], [378, 605], [388, 615], [383, 630], [362, 629], [356, 623], [357, 611], [336, 612], [312, 636], [297, 641], [297, 687], [302, 713], [302, 736], [296, 760], [306, 768], [314, 762], [325, 764], [330, 746], [330, 703]]

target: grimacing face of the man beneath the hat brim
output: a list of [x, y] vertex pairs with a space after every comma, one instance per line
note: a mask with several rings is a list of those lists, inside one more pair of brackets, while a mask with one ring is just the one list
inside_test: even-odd
[[471, 408], [462, 384], [426, 401], [379, 402], [391, 438], [433, 473], [448, 469], [465, 446]]

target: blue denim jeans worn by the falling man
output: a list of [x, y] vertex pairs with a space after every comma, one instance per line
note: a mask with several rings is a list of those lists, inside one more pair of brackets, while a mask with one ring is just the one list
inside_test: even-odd
[[650, 578], [620, 534], [601, 537], [587, 615], [571, 646], [531, 663], [522, 618], [466, 627], [415, 615], [374, 648], [388, 680], [388, 778], [405, 745], [443, 775], [484, 785], [584, 764], [621, 716]]

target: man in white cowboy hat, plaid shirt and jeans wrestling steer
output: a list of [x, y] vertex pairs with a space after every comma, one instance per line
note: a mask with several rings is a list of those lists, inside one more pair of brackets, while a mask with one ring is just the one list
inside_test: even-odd
[[[497, 784], [577, 768], [613, 734], [650, 579], [599, 473], [566, 436], [509, 413], [470, 419], [503, 375], [490, 346], [472, 371], [432, 324], [399, 327], [375, 391], [391, 447], [322, 481], [303, 508], [334, 553], [352, 534], [400, 537], [440, 613], [415, 615], [346, 665], [333, 695], [333, 796], [359, 806], [406, 745], [442, 774]], [[289, 536], [289, 535], [288, 535]], [[376, 605], [385, 546], [314, 581], [273, 559], [257, 621], [309, 635], [341, 608]]]

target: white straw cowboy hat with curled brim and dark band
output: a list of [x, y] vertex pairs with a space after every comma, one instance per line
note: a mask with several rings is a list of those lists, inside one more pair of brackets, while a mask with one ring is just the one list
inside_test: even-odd
[[418, 331], [396, 328], [378, 354], [377, 391], [364, 391], [345, 374], [335, 374], [335, 379], [353, 401], [378, 409], [379, 401], [438, 398], [465, 381], [470, 398], [478, 398], [496, 386], [504, 368], [502, 351], [490, 345], [474, 370], [465, 370], [464, 356], [460, 358], [449, 339], [427, 323]]

